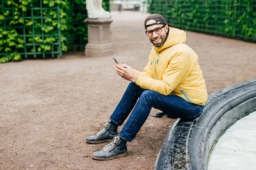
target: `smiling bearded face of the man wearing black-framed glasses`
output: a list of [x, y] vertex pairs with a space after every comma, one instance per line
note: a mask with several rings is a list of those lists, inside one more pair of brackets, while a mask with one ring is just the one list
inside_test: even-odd
[[[146, 25], [153, 24], [154, 22], [156, 22], [156, 20], [148, 20]], [[153, 31], [153, 34], [148, 36], [148, 38], [150, 42], [156, 47], [162, 46], [167, 38], [168, 25], [165, 25], [165, 27], [163, 28], [161, 27], [163, 27], [163, 24], [156, 24], [156, 25], [147, 27], [147, 31]], [[161, 32], [156, 33], [154, 29], [157, 29], [157, 28], [161, 28]]]

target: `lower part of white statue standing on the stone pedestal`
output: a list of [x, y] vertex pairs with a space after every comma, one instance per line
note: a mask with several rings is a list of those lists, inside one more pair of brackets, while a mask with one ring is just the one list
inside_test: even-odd
[[102, 8], [102, 0], [86, 0], [88, 18], [110, 18], [110, 13]]

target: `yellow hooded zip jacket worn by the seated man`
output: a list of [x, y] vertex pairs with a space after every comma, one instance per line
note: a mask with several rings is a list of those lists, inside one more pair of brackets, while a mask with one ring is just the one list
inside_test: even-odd
[[175, 95], [189, 103], [204, 105], [208, 95], [198, 55], [185, 41], [186, 32], [169, 27], [164, 44], [152, 47], [144, 71], [133, 70], [138, 75], [136, 85], [164, 96]]

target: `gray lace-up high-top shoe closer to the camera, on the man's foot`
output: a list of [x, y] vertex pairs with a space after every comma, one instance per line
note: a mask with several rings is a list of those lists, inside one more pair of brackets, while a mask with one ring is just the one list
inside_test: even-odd
[[110, 160], [117, 157], [125, 157], [128, 154], [126, 142], [119, 136], [115, 136], [113, 141], [104, 146], [102, 150], [92, 153], [92, 158], [96, 160]]

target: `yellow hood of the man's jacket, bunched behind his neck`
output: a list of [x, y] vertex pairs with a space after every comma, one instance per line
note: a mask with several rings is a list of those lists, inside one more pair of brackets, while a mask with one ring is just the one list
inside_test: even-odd
[[186, 32], [180, 30], [180, 29], [175, 29], [173, 27], [169, 27], [169, 35], [166, 41], [162, 46], [155, 47], [155, 50], [157, 52], [162, 52], [164, 49], [179, 44], [179, 43], [185, 43], [186, 42]]

